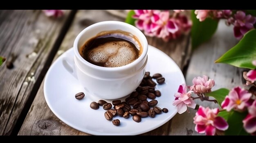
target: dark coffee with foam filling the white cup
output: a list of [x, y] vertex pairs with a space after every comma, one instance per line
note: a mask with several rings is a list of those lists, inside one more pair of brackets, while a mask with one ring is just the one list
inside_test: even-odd
[[120, 30], [103, 31], [87, 40], [79, 50], [86, 61], [103, 67], [119, 67], [135, 61], [142, 53], [137, 37]]

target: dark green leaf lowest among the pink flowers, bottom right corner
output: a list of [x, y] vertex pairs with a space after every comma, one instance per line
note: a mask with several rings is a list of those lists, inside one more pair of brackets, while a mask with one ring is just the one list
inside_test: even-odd
[[230, 111], [227, 123], [229, 128], [225, 131], [225, 135], [249, 135], [243, 128], [243, 119], [247, 112]]

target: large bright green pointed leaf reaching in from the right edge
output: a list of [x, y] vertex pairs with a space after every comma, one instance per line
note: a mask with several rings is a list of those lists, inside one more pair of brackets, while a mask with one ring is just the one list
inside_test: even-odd
[[215, 63], [225, 63], [238, 68], [254, 69], [256, 59], [256, 29], [247, 32], [236, 46], [227, 51]]

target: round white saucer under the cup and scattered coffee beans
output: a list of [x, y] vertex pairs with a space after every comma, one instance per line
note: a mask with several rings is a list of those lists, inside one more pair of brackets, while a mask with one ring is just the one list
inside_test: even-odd
[[[156, 89], [162, 92], [162, 96], [156, 99], [157, 106], [167, 108], [169, 111], [157, 114], [155, 118], [141, 118], [140, 123], [133, 121], [131, 115], [128, 119], [116, 116], [113, 119], [120, 120], [119, 126], [105, 119], [106, 110], [101, 106], [98, 110], [91, 109], [92, 100], [86, 95], [81, 100], [74, 97], [76, 93], [85, 92], [85, 90], [63, 67], [61, 58], [65, 55], [73, 57], [73, 50], [69, 49], [63, 53], [49, 68], [44, 82], [44, 95], [52, 112], [72, 128], [94, 135], [137, 135], [160, 127], [177, 113], [176, 107], [172, 105], [173, 95], [180, 84], [185, 83], [185, 79], [177, 64], [157, 48], [148, 46], [146, 71], [149, 71], [151, 76], [161, 73], [165, 77], [165, 84], [156, 86]], [[106, 101], [112, 103], [112, 100]]]

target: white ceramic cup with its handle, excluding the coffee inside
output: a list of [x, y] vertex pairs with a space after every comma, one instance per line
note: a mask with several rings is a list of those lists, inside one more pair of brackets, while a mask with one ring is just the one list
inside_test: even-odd
[[[102, 31], [121, 30], [137, 37], [142, 46], [141, 55], [130, 64], [119, 67], [102, 67], [91, 64], [79, 54], [79, 48]], [[91, 95], [102, 99], [118, 99], [133, 92], [141, 83], [147, 64], [148, 42], [135, 26], [125, 22], [104, 21], [92, 24], [77, 35], [74, 57], [63, 57], [63, 66], [76, 77]]]

